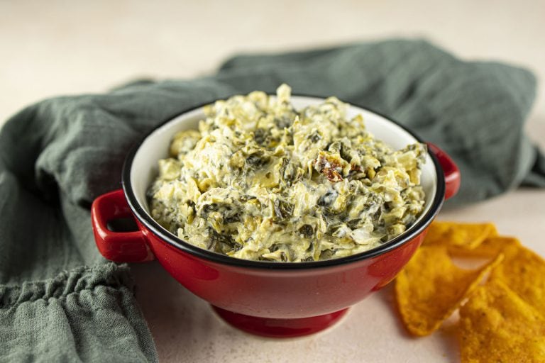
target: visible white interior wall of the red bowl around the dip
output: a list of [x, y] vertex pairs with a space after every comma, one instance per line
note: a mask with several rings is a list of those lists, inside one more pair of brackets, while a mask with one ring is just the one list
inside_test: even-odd
[[[305, 106], [319, 104], [323, 100], [314, 97], [292, 96], [292, 104], [295, 108], [300, 109]], [[365, 127], [375, 135], [375, 138], [384, 141], [388, 145], [401, 149], [408, 144], [416, 143], [417, 140], [407, 133], [406, 130], [399, 125], [390, 122], [376, 113], [367, 111], [363, 108], [351, 106], [348, 109], [348, 118], [360, 113], [365, 121]], [[146, 213], [149, 213], [148, 201], [145, 197], [145, 192], [152, 183], [153, 179], [158, 174], [158, 160], [168, 156], [168, 149], [172, 136], [181, 130], [189, 130], [197, 128], [199, 120], [204, 118], [202, 108], [197, 108], [194, 111], [184, 113], [172, 121], [165, 123], [151, 133], [148, 138], [145, 138], [142, 145], [138, 148], [136, 155], [133, 158], [131, 165], [131, 186], [138, 203], [143, 206]], [[426, 162], [422, 167], [422, 187], [426, 193], [426, 203], [424, 211], [420, 218], [426, 215], [431, 208], [431, 202], [436, 194], [437, 174], [434, 162], [429, 155], [426, 155]], [[419, 218], [419, 220], [420, 220]], [[416, 225], [417, 220], [414, 225]]]

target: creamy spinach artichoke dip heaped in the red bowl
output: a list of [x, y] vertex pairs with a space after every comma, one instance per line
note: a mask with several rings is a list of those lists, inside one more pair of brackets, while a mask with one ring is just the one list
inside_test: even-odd
[[177, 133], [148, 190], [151, 216], [182, 240], [241, 259], [317, 261], [370, 250], [424, 208], [426, 145], [393, 150], [330, 97], [296, 110], [291, 89], [204, 107]]

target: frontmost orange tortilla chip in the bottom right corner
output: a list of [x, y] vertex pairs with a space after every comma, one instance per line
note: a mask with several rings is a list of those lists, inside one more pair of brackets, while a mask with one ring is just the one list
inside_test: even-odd
[[545, 362], [545, 319], [501, 281], [460, 308], [462, 362]]

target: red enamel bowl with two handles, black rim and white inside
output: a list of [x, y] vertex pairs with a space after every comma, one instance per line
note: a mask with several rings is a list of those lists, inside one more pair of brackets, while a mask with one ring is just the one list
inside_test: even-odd
[[[297, 108], [321, 99], [294, 96]], [[351, 106], [348, 116], [362, 113], [367, 128], [393, 147], [420, 141], [394, 121], [365, 108]], [[145, 190], [166, 157], [170, 138], [194, 128], [202, 108], [182, 113], [146, 135], [129, 152], [123, 166], [123, 189], [97, 198], [92, 225], [97, 247], [115, 262], [157, 259], [172, 277], [211, 303], [228, 323], [248, 333], [295, 337], [315, 333], [342, 317], [348, 307], [395, 278], [424, 239], [444, 199], [456, 194], [460, 173], [448, 155], [429, 145], [422, 169], [426, 191], [424, 212], [402, 235], [357, 255], [317, 262], [262, 262], [236, 259], [177, 238], [148, 213]], [[116, 218], [133, 217], [138, 230], [113, 232]]]

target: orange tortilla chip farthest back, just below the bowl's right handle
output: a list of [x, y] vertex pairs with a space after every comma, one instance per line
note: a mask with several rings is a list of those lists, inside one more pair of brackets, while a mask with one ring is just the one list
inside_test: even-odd
[[454, 223], [434, 221], [422, 245], [450, 245], [473, 249], [486, 238], [497, 235], [492, 223]]

